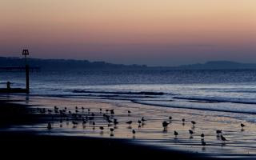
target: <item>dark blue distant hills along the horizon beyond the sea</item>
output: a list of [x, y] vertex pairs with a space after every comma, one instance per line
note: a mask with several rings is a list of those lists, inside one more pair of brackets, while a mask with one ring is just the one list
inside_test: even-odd
[[[210, 61], [183, 66], [146, 66], [122, 65], [108, 62], [90, 62], [72, 59], [29, 58], [30, 66], [39, 66], [42, 70], [256, 70], [256, 63], [239, 63], [230, 61]], [[24, 66], [24, 58], [0, 57], [2, 66]]]

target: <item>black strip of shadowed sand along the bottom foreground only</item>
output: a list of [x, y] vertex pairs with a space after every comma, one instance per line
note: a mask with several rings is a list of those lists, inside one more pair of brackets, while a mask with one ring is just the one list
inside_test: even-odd
[[[166, 148], [143, 146], [121, 138], [38, 135], [26, 132], [1, 133], [2, 155], [9, 158], [158, 158], [214, 159]], [[15, 154], [14, 154], [15, 153]]]

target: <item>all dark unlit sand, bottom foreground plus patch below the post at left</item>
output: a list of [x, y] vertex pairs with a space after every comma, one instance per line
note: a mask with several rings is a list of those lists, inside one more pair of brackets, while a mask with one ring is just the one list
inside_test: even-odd
[[[22, 101], [0, 100], [1, 129], [0, 142], [2, 156], [9, 158], [80, 158], [81, 155], [97, 158], [120, 159], [119, 156], [134, 158], [143, 156], [150, 158], [182, 158], [206, 159], [205, 155], [189, 154], [182, 151], [166, 150], [161, 147], [139, 145], [124, 138], [92, 138], [87, 136], [42, 135], [37, 131], [6, 131], [12, 126], [45, 123], [40, 115], [31, 114], [28, 105], [17, 104]], [[38, 117], [39, 116], [39, 117]], [[67, 151], [67, 153], [65, 153]], [[207, 158], [209, 159], [209, 158]]]

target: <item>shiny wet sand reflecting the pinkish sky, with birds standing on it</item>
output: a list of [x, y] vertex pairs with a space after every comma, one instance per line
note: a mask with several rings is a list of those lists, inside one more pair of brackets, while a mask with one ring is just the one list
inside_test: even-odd
[[34, 98], [30, 103], [42, 105], [34, 107], [33, 111], [34, 114], [43, 114], [46, 123], [14, 126], [12, 130], [136, 139], [139, 143], [215, 157], [256, 154], [254, 123], [218, 116], [218, 112], [154, 107], [129, 101]]

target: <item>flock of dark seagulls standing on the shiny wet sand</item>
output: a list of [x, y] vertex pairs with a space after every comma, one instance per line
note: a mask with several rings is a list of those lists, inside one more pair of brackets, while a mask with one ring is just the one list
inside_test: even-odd
[[[96, 122], [94, 122], [94, 119], [95, 118], [103, 118], [106, 120], [108, 127], [114, 126], [114, 127], [110, 127], [110, 133], [111, 133], [110, 136], [114, 136], [114, 130], [117, 128], [116, 126], [120, 122], [118, 122], [117, 118], [114, 118], [114, 110], [113, 109], [105, 110], [106, 112], [104, 112], [104, 113], [102, 112], [102, 109], [99, 109], [98, 115], [94, 114], [93, 112], [90, 112], [90, 109], [87, 109], [87, 111], [84, 107], [82, 107], [81, 109], [82, 110], [79, 110], [78, 106], [76, 106], [74, 113], [72, 113], [70, 110], [68, 111], [66, 107], [63, 110], [59, 109], [57, 106], [54, 106], [54, 110], [50, 110], [50, 109], [46, 110], [45, 108], [42, 108], [42, 109], [37, 108], [38, 112], [41, 114], [52, 115], [52, 117], [51, 117], [52, 120], [54, 120], [54, 118], [56, 118], [56, 115], [58, 115], [58, 119], [59, 119], [61, 127], [62, 127], [63, 119], [66, 119], [67, 125], [69, 124], [69, 121], [71, 120], [73, 126], [76, 127], [76, 126], [78, 126], [78, 122], [82, 121], [82, 126], [86, 126], [86, 123], [90, 122], [93, 125], [93, 128], [95, 128]], [[128, 113], [128, 116], [130, 116], [131, 111], [128, 110], [127, 113]], [[166, 122], [166, 121], [162, 122], [163, 132], [167, 131], [167, 127], [168, 127], [168, 125], [170, 125], [171, 120], [172, 120], [172, 117], [170, 116], [169, 117], [170, 122]], [[145, 125], [146, 121], [147, 120], [144, 117], [139, 119], [138, 120], [138, 128], [141, 128], [141, 126]], [[186, 122], [185, 118], [182, 118], [183, 126], [184, 126], [185, 122]], [[132, 127], [131, 127], [132, 123], [133, 123], [133, 121], [126, 122], [126, 124], [129, 125], [128, 128], [132, 129]], [[188, 130], [188, 132], [190, 134], [190, 138], [193, 138], [193, 134], [194, 134], [193, 129], [196, 125], [196, 122], [191, 121], [191, 123], [192, 123], [192, 128], [191, 128], [191, 130]], [[240, 126], [242, 127], [242, 130], [243, 130], [243, 127], [245, 127], [245, 125], [242, 123], [240, 124]], [[46, 128], [48, 130], [53, 129], [52, 122], [48, 122]], [[104, 126], [99, 126], [98, 128], [102, 131], [104, 130]], [[132, 134], [136, 134], [136, 130], [132, 130]], [[216, 134], [217, 134], [217, 138], [220, 138], [220, 140], [222, 140], [222, 142], [227, 141], [227, 139], [222, 134], [222, 130], [216, 130]], [[175, 138], [178, 137], [178, 131], [174, 130], [174, 136], [175, 136]], [[202, 144], [202, 146], [206, 146], [205, 134], [203, 134], [203, 133], [201, 134], [201, 144]]]

